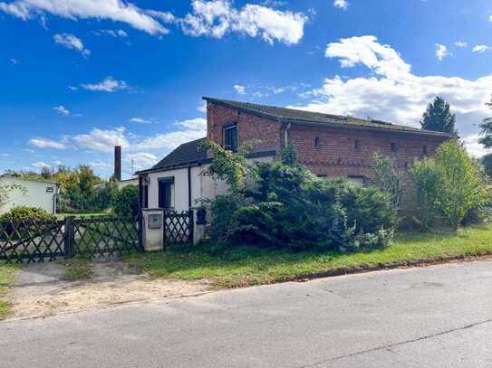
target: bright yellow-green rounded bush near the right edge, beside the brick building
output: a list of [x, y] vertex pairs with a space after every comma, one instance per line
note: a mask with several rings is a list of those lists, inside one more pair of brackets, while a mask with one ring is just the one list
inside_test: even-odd
[[478, 218], [490, 202], [486, 175], [456, 139], [439, 146], [435, 158], [415, 164], [411, 174], [418, 215], [427, 224], [441, 216], [456, 230], [467, 218]]

